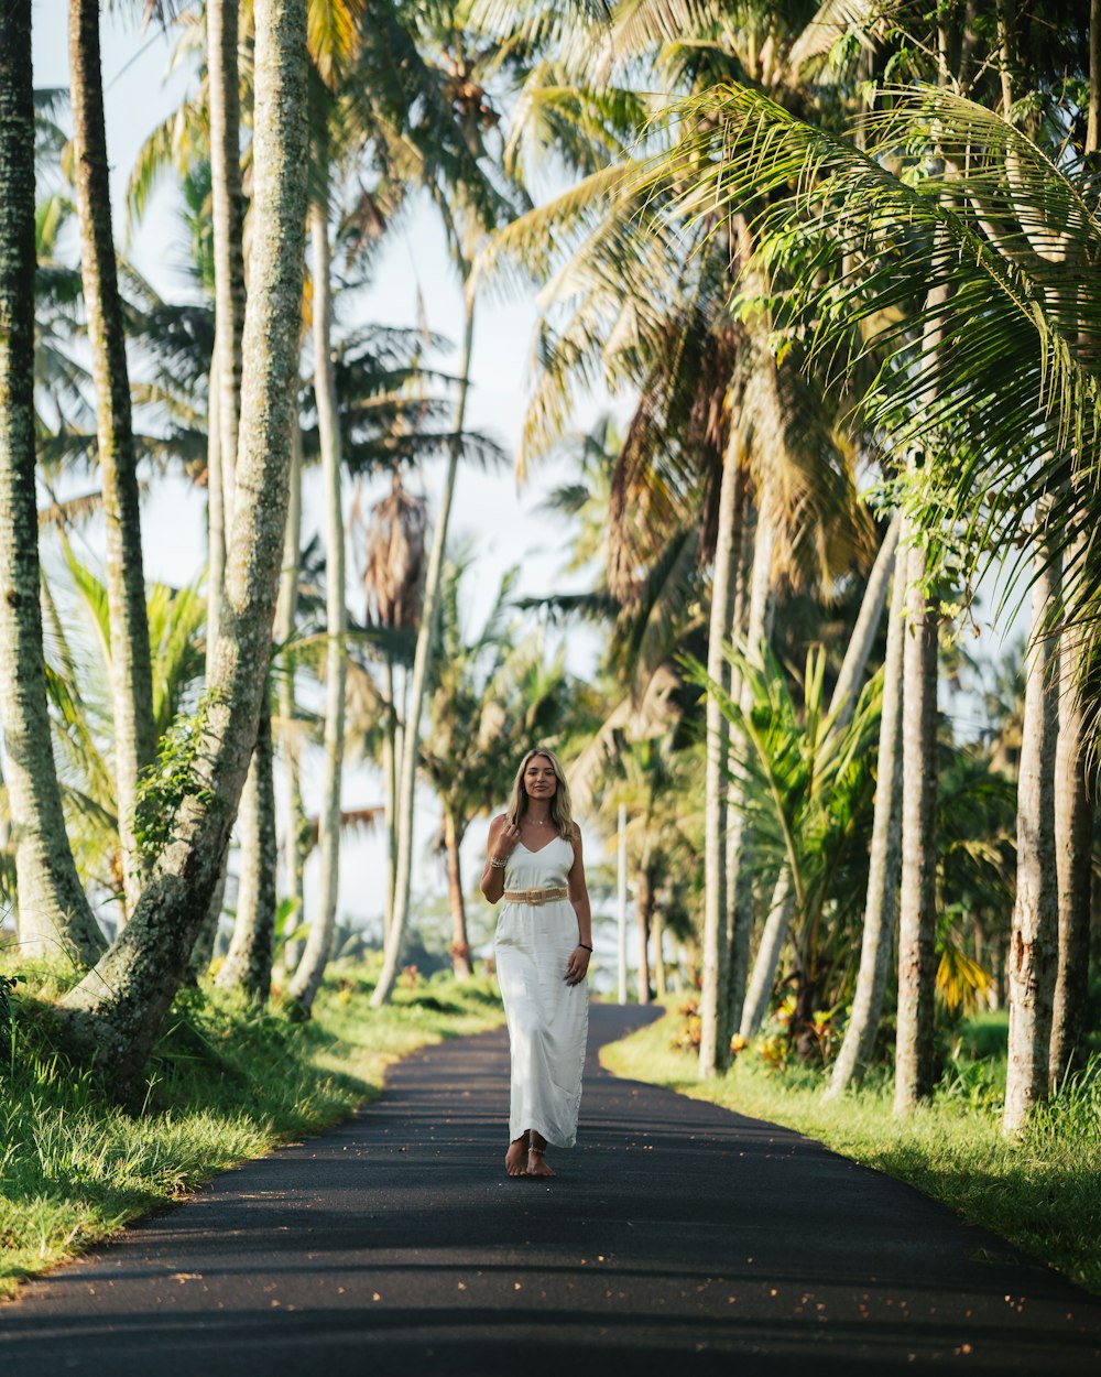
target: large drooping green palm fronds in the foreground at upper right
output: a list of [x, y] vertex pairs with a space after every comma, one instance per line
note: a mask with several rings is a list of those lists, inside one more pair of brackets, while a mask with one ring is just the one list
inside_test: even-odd
[[[762, 190], [779, 191], [789, 176], [798, 178], [801, 191], [769, 213], [780, 234], [790, 235], [801, 224], [816, 235], [820, 252], [812, 255], [812, 271], [817, 286], [804, 271], [804, 291], [797, 293], [800, 311], [817, 315], [815, 347], [831, 351], [838, 372], [848, 376], [867, 357], [868, 337], [874, 347], [886, 347], [889, 357], [893, 353], [881, 386], [868, 394], [866, 414], [873, 423], [884, 421], [895, 443], [925, 449], [925, 464], [912, 479], [925, 508], [922, 526], [961, 526], [972, 534], [973, 558], [981, 558], [1014, 533], [1032, 540], [1024, 529], [1027, 514], [1073, 474], [1058, 503], [1056, 529], [1045, 537], [1056, 548], [1073, 548], [1091, 519], [1082, 487], [1089, 481], [1068, 461], [1047, 456], [1065, 454], [1068, 437], [1076, 454], [1093, 453], [1101, 417], [1091, 343], [1098, 329], [1095, 293], [1091, 280], [1071, 267], [1097, 242], [1097, 224], [1073, 162], [1056, 161], [1005, 120], [948, 91], [899, 94], [895, 110], [871, 123], [873, 142], [866, 150], [801, 124], [746, 91], [703, 102], [698, 113], [705, 110], [721, 124], [729, 154], [717, 174], [720, 205], [739, 207]], [[732, 136], [736, 128], [745, 139]], [[884, 167], [878, 154], [888, 146], [897, 150], [904, 129], [926, 138], [936, 131], [945, 156], [944, 179], [914, 189]], [[691, 157], [698, 162], [702, 149], [712, 145], [705, 132]], [[745, 154], [729, 151], [739, 149]], [[976, 150], [983, 150], [981, 157]], [[710, 182], [696, 179], [692, 193], [701, 208], [706, 201], [712, 216], [713, 190]], [[823, 216], [822, 207], [830, 207], [830, 213]], [[914, 231], [901, 253], [886, 229], [900, 223], [899, 216]], [[767, 229], [764, 234], [768, 238]], [[966, 249], [959, 253], [962, 245]], [[841, 285], [823, 286], [826, 262], [851, 264]], [[951, 347], [936, 351], [921, 344], [922, 318], [904, 314], [915, 286], [930, 278], [934, 291], [926, 302], [926, 322], [943, 326], [947, 311], [969, 322], [965, 333], [951, 333]], [[950, 306], [945, 289], [952, 293]], [[892, 322], [885, 313], [899, 307]], [[849, 332], [862, 324], [870, 329], [857, 339]], [[936, 332], [926, 332], [926, 341], [934, 339]], [[1075, 560], [1073, 585], [1067, 600], [1076, 609], [1080, 636], [1089, 640], [1098, 607], [1097, 566], [1089, 552]], [[923, 657], [912, 638], [910, 644], [911, 657], [926, 666], [933, 657], [930, 642], [926, 633]], [[910, 709], [906, 717], [911, 720]], [[1068, 755], [1073, 759], [1075, 750]], [[928, 752], [917, 752], [915, 760], [928, 770]], [[907, 796], [912, 797], [910, 790]], [[923, 870], [928, 914], [928, 863]], [[904, 885], [911, 901], [917, 892], [917, 885]], [[919, 927], [910, 964], [917, 963], [928, 990], [932, 932], [928, 921]], [[925, 1078], [928, 1084], [928, 1058]]]

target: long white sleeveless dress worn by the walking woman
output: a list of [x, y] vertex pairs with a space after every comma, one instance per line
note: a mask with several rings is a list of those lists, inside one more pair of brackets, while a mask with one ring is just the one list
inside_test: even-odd
[[[564, 837], [539, 851], [520, 843], [508, 861], [505, 890], [563, 887], [573, 863], [574, 848]], [[501, 909], [494, 949], [512, 1049], [509, 1139], [534, 1129], [553, 1147], [573, 1147], [577, 1140], [589, 1031], [586, 983], [564, 979], [577, 943], [577, 914], [568, 899]]]

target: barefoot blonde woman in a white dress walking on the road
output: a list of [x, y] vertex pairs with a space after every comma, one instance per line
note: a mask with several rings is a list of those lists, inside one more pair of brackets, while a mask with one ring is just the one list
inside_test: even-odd
[[508, 811], [490, 823], [482, 892], [490, 903], [505, 901], [495, 939], [512, 1051], [505, 1170], [553, 1176], [546, 1144], [577, 1139], [593, 939], [581, 830], [546, 746], [527, 752]]

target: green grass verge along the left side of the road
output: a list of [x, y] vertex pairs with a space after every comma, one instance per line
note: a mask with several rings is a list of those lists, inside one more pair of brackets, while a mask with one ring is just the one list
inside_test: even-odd
[[399, 980], [374, 1011], [369, 975], [337, 969], [308, 1023], [190, 991], [157, 1045], [146, 1111], [132, 1115], [58, 1051], [58, 989], [50, 972], [18, 986], [11, 1048], [0, 1036], [0, 1297], [217, 1172], [345, 1117], [399, 1058], [502, 1020], [486, 980]]

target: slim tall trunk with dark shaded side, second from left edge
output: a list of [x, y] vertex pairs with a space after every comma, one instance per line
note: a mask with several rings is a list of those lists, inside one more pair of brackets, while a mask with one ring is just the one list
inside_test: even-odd
[[107, 529], [107, 618], [111, 646], [114, 772], [127, 913], [142, 892], [147, 862], [133, 836], [138, 775], [157, 750], [149, 649], [138, 459], [131, 423], [127, 341], [111, 234], [107, 131], [99, 58], [99, 0], [69, 0], [73, 164], [80, 218], [80, 269], [92, 354], [96, 443]]

